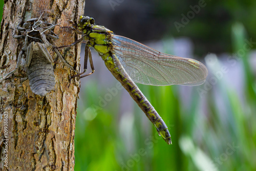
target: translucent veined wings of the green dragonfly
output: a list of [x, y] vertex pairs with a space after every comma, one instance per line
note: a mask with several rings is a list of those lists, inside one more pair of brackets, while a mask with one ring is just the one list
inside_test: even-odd
[[113, 35], [111, 41], [113, 54], [134, 82], [152, 86], [197, 86], [205, 82], [208, 70], [195, 59], [160, 53], [123, 36]]

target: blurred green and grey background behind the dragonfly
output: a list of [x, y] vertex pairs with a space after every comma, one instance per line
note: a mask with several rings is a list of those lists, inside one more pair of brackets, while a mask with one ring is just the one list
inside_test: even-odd
[[197, 87], [138, 84], [169, 127], [167, 145], [92, 49], [95, 73], [81, 80], [78, 101], [75, 170], [256, 170], [255, 9], [248, 0], [87, 0], [84, 15], [96, 24], [200, 60], [209, 75]]

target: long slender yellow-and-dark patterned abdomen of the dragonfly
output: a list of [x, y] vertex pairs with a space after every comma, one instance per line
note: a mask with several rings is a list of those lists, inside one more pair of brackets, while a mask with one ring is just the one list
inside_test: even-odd
[[168, 127], [163, 119], [154, 109], [152, 104], [146, 99], [143, 93], [139, 90], [130, 76], [123, 69], [120, 61], [115, 55], [109, 54], [109, 57], [102, 57], [105, 61], [106, 67], [114, 75], [114, 77], [122, 84], [122, 86], [129, 92], [134, 101], [139, 105], [140, 109], [145, 113], [147, 118], [154, 124], [159, 136], [162, 136], [167, 144], [171, 144], [170, 133]]

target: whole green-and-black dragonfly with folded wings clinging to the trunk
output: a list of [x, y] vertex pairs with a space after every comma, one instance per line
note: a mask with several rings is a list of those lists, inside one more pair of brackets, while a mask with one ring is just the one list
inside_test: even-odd
[[[94, 48], [101, 56], [106, 68], [130, 93], [146, 117], [156, 127], [159, 136], [162, 136], [167, 144], [172, 144], [165, 122], [135, 83], [151, 86], [173, 84], [197, 86], [204, 83], [208, 75], [208, 70], [203, 63], [191, 58], [161, 53], [130, 38], [115, 35], [109, 29], [96, 25], [94, 18], [89, 16], [80, 16], [77, 29], [65, 28], [72, 29], [80, 34], [81, 38], [71, 45], [58, 48], [75, 46], [80, 42], [86, 44], [84, 70], [72, 76], [71, 79], [75, 77], [80, 79], [94, 73], [90, 47]], [[85, 74], [88, 59], [92, 72]]]

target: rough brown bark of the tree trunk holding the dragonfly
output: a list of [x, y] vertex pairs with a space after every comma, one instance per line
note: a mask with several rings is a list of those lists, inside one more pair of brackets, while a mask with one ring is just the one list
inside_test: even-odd
[[[83, 1], [7, 1], [5, 0], [0, 33], [1, 76], [15, 69], [24, 39], [15, 39], [15, 29], [23, 22], [40, 15], [49, 23], [72, 26], [83, 14]], [[79, 37], [71, 30], [56, 26], [59, 36], [55, 46], [70, 45]], [[50, 52], [51, 49], [48, 49]], [[60, 49], [66, 61], [79, 69], [80, 47]], [[25, 52], [26, 53], [26, 52]], [[53, 59], [56, 54], [52, 53]], [[58, 59], [54, 63], [55, 88], [45, 97], [30, 90], [25, 65], [26, 55], [18, 71], [0, 83], [0, 170], [74, 170], [74, 131], [78, 98], [75, 73]]]

